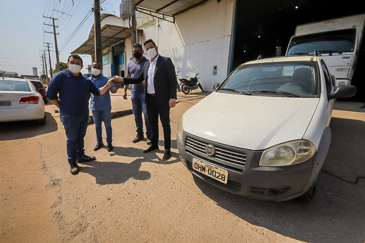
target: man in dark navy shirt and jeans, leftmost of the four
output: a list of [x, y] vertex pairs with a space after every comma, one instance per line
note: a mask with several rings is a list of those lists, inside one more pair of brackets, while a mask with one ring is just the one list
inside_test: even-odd
[[83, 63], [79, 55], [70, 55], [67, 67], [68, 69], [57, 72], [53, 76], [46, 95], [50, 102], [59, 108], [59, 117], [67, 137], [66, 149], [70, 172], [78, 174], [77, 162], [95, 160], [94, 156], [85, 155], [84, 150], [84, 137], [89, 121], [90, 93], [102, 95], [113, 83], [109, 80], [104, 87], [96, 87], [90, 79], [81, 74]]

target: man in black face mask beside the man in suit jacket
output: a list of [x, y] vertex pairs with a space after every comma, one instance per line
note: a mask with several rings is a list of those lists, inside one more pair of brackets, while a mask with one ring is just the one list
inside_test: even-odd
[[[134, 59], [128, 62], [127, 65], [127, 75], [126, 77], [136, 78], [141, 73], [143, 66], [148, 62], [147, 58], [143, 56], [143, 49], [141, 44], [134, 44], [132, 46], [132, 54]], [[142, 82], [141, 84], [134, 84], [132, 86], [132, 92], [130, 95], [130, 100], [132, 101], [132, 109], [134, 115], [134, 122], [137, 127], [137, 135], [132, 140], [132, 142], [139, 142], [142, 139], [145, 139], [143, 135], [143, 120], [142, 120], [142, 112], [145, 117], [145, 125], [146, 125], [146, 137], [147, 144], [151, 144], [151, 125], [149, 124], [148, 115], [147, 115], [147, 107], [145, 103], [145, 84]], [[124, 86], [124, 95], [123, 98], [127, 100], [127, 89], [128, 85]]]

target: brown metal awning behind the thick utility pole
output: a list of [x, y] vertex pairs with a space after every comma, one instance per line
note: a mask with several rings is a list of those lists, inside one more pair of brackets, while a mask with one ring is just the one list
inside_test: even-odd
[[[116, 17], [110, 14], [102, 14], [100, 19], [103, 20], [106, 17]], [[138, 30], [141, 32], [141, 30]], [[105, 24], [101, 27], [101, 46], [102, 49], [110, 47], [116, 43], [119, 43], [132, 35], [132, 28]], [[91, 27], [91, 31], [88, 39], [82, 43], [76, 50], [71, 52], [72, 54], [94, 54], [95, 42], [94, 42], [94, 26]]]

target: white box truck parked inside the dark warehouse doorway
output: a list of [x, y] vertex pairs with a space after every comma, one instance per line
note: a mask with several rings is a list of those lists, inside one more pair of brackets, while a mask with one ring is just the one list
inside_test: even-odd
[[361, 52], [365, 14], [298, 25], [286, 56], [313, 55], [325, 60], [337, 85], [350, 85]]

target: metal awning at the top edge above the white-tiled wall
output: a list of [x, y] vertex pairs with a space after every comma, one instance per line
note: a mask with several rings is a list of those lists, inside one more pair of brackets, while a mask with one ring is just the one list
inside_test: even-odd
[[159, 13], [177, 15], [207, 0], [132, 0], [132, 5]]

